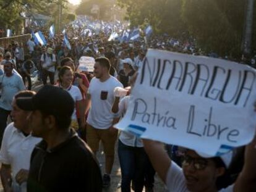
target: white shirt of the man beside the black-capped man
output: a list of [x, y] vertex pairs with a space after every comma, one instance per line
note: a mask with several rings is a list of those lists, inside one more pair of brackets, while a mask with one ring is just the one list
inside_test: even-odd
[[15, 182], [15, 176], [20, 169], [29, 170], [30, 156], [35, 145], [40, 141], [41, 138], [36, 138], [32, 135], [23, 135], [21, 131], [14, 127], [14, 123], [10, 123], [6, 127], [6, 130], [4, 130], [0, 150], [0, 162], [2, 164], [11, 165], [12, 182], [14, 182], [12, 183], [12, 186], [14, 188], [19, 187]]

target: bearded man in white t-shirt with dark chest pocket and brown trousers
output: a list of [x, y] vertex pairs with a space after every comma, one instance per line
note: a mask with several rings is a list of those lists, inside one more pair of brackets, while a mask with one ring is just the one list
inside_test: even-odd
[[117, 130], [113, 128], [116, 123], [111, 107], [114, 102], [114, 88], [122, 84], [109, 75], [110, 62], [106, 57], [95, 59], [94, 75], [88, 89], [85, 109], [90, 108], [87, 118], [87, 143], [96, 153], [100, 141], [105, 152], [105, 174], [103, 186], [110, 185], [110, 173], [114, 162], [114, 144], [117, 139]]

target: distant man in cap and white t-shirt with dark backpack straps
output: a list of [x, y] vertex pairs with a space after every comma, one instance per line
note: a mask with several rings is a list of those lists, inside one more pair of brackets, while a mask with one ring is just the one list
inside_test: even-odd
[[53, 49], [48, 48], [46, 53], [41, 56], [41, 66], [43, 69], [43, 85], [47, 84], [47, 77], [51, 85], [54, 85], [54, 73], [55, 73], [56, 56], [53, 54]]

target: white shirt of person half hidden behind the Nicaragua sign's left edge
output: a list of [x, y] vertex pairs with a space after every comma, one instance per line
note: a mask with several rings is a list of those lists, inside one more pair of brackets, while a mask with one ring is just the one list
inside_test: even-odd
[[[130, 100], [130, 96], [126, 96], [126, 97], [122, 98], [121, 101], [119, 102], [119, 105], [118, 105], [119, 116], [123, 116], [126, 113], [126, 110], [128, 108], [128, 104], [129, 104], [129, 100]], [[126, 131], [121, 131], [119, 140], [123, 144], [126, 144], [127, 146], [132, 146], [132, 147], [137, 147], [137, 148], [143, 147], [143, 143], [140, 138], [137, 138], [137, 136], [135, 136], [134, 134], [128, 133]]]

